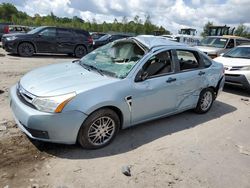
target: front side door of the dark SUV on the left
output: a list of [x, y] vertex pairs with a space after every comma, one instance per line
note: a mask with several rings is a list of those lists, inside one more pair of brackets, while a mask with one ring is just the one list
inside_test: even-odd
[[45, 28], [34, 38], [37, 52], [56, 53], [56, 28]]

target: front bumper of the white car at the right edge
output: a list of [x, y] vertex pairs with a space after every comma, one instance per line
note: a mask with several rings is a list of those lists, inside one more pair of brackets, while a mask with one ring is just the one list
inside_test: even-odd
[[250, 83], [243, 74], [226, 73], [226, 84], [237, 85], [246, 89], [250, 89]]

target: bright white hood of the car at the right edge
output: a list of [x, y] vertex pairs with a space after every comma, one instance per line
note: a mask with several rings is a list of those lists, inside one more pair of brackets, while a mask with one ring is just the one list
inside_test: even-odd
[[213, 59], [216, 62], [222, 63], [224, 66], [250, 66], [250, 59], [245, 58], [230, 58], [230, 57], [217, 57]]

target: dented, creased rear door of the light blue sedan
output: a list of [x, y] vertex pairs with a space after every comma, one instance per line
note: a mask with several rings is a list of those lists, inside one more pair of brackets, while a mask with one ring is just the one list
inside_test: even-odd
[[203, 59], [196, 51], [176, 49], [174, 54], [177, 69], [175, 77], [178, 87], [176, 109], [194, 108], [200, 91], [207, 87], [208, 69], [206, 69]]

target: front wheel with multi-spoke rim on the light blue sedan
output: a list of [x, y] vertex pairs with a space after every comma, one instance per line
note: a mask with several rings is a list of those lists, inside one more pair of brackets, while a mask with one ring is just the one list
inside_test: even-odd
[[[103, 125], [103, 126], [101, 126]], [[98, 149], [110, 144], [120, 128], [120, 119], [111, 109], [93, 112], [82, 124], [77, 140], [85, 149]]]

